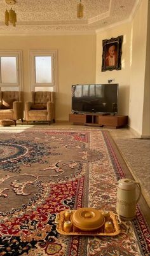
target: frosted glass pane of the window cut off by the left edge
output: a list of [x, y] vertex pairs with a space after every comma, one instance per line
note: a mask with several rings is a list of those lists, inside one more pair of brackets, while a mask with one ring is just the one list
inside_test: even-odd
[[1, 57], [1, 83], [17, 83], [16, 57]]

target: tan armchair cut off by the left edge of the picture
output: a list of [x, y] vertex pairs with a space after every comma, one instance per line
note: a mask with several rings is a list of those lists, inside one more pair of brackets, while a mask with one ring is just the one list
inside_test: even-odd
[[13, 120], [16, 125], [19, 119], [23, 122], [23, 117], [23, 92], [0, 92], [0, 120]]

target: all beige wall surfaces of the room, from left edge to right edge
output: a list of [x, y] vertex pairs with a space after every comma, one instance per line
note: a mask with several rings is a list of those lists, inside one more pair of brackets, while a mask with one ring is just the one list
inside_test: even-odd
[[[133, 17], [127, 22], [121, 22], [109, 29], [101, 29], [96, 34], [85, 32], [45, 36], [43, 32], [37, 36], [36, 32], [29, 35], [25, 32], [21, 34], [20, 31], [1, 32], [1, 50], [22, 50], [24, 102], [31, 100], [29, 51], [57, 49], [56, 120], [69, 120], [71, 85], [107, 83], [113, 78], [115, 83], [119, 83], [118, 112], [121, 115], [128, 115], [129, 127], [139, 136], [149, 136], [149, 17], [143, 17], [143, 13], [147, 13], [148, 3], [149, 1], [142, 1], [136, 13], [133, 13]], [[102, 40], [121, 35], [121, 70], [102, 72]]]

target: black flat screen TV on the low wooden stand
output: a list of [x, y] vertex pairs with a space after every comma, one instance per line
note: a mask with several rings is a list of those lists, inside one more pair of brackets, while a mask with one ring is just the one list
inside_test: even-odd
[[118, 83], [72, 85], [72, 113], [118, 113]]

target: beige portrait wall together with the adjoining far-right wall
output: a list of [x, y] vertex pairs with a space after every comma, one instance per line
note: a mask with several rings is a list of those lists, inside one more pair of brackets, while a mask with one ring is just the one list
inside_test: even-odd
[[[97, 32], [96, 82], [107, 83], [114, 78], [119, 83], [119, 113], [128, 115], [129, 126], [140, 136], [150, 136], [148, 2], [142, 1], [132, 22]], [[121, 70], [102, 72], [102, 40], [121, 35]]]

